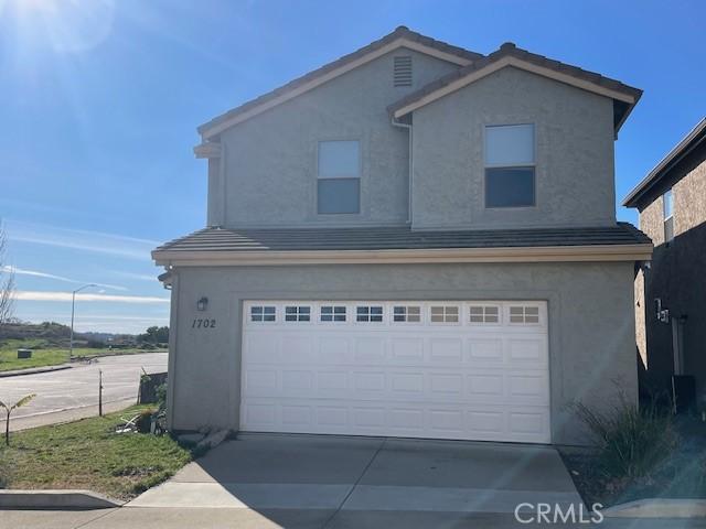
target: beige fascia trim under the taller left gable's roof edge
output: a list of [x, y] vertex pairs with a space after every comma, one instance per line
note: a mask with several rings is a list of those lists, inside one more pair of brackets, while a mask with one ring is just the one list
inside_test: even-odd
[[351, 61], [350, 63], [341, 66], [340, 68], [333, 69], [327, 74], [323, 74], [314, 79], [311, 79], [309, 83], [306, 83], [292, 90], [287, 91], [286, 94], [282, 94], [281, 96], [275, 97], [266, 102], [263, 102], [261, 105], [258, 105], [245, 112], [240, 112], [236, 116], [233, 116], [231, 119], [226, 119], [225, 121], [222, 121], [220, 123], [215, 123], [213, 127], [207, 128], [206, 130], [204, 130], [201, 133], [201, 137], [203, 138], [203, 140], [207, 140], [210, 138], [213, 138], [216, 134], [220, 134], [221, 132], [223, 132], [226, 129], [229, 129], [231, 127], [240, 123], [247, 119], [250, 119], [254, 116], [257, 116], [258, 114], [264, 112], [265, 110], [269, 110], [272, 107], [276, 107], [277, 105], [281, 105], [285, 101], [288, 101], [289, 99], [293, 99], [295, 97], [298, 97], [313, 88], [317, 88], [318, 86], [323, 85], [324, 83], [328, 83], [329, 80], [332, 80], [352, 69], [357, 68], [359, 66], [362, 66], [366, 63], [370, 63], [371, 61], [376, 60], [377, 57], [382, 57], [383, 55], [385, 55], [386, 53], [393, 52], [399, 47], [406, 47], [409, 50], [413, 50], [415, 52], [419, 52], [419, 53], [425, 53], [427, 55], [430, 55], [432, 57], [437, 57], [440, 58], [442, 61], [446, 61], [448, 63], [453, 63], [453, 64], [458, 64], [459, 66], [467, 66], [471, 63], [471, 61], [463, 58], [463, 57], [459, 57], [458, 55], [453, 55], [451, 53], [446, 53], [442, 52], [440, 50], [437, 50], [435, 47], [429, 47], [429, 46], [425, 46], [424, 44], [420, 44], [418, 42], [415, 41], [409, 41], [407, 39], [397, 39], [393, 42], [391, 42], [389, 44], [375, 50], [374, 52], [371, 52], [366, 55], [363, 55], [359, 58], [356, 58], [355, 61]]

